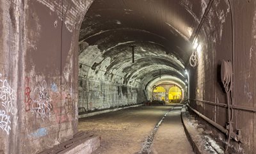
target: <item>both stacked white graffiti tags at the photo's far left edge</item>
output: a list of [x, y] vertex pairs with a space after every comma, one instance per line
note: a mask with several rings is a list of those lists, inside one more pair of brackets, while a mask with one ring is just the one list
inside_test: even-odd
[[2, 74], [0, 73], [0, 103], [4, 107], [4, 110], [0, 110], [0, 128], [9, 135], [11, 130], [11, 115], [17, 113], [17, 109], [13, 106], [16, 97], [8, 81], [6, 79], [2, 80], [1, 77]]

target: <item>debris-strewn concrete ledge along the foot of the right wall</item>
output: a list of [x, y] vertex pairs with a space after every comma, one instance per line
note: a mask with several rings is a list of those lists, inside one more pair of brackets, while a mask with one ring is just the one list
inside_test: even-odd
[[202, 128], [196, 128], [196, 124], [189, 121], [188, 115], [189, 112], [183, 107], [181, 111], [182, 124], [193, 151], [196, 154], [224, 153], [211, 137], [203, 134], [204, 130]]

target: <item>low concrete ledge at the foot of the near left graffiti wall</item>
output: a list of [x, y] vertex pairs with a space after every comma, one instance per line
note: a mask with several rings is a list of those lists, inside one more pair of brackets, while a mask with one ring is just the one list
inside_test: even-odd
[[100, 146], [100, 137], [90, 137], [79, 141], [79, 144], [70, 146], [69, 148], [60, 152], [60, 154], [91, 154], [93, 151], [97, 150]]

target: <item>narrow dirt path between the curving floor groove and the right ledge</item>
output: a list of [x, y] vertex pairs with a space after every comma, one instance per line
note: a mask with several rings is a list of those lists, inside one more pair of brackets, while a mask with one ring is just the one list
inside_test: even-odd
[[189, 143], [180, 118], [180, 107], [175, 107], [173, 111], [164, 119], [161, 127], [157, 130], [152, 144], [154, 154], [192, 154], [193, 149]]

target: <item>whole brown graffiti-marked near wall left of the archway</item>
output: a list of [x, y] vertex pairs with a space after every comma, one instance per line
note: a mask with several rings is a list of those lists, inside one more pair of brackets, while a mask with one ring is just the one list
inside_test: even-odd
[[91, 3], [0, 1], [0, 153], [38, 153], [77, 131], [77, 42]]

